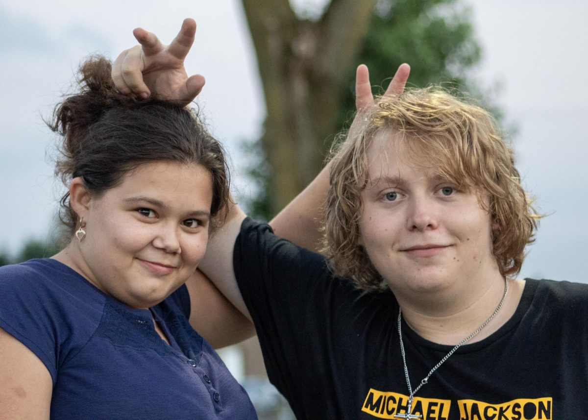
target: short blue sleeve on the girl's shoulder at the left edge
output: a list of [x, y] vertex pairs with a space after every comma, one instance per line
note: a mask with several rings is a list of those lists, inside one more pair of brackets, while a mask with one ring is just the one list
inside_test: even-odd
[[[0, 267], [0, 328], [41, 359], [54, 384], [59, 366], [92, 335], [103, 306], [88, 305], [83, 293], [93, 286], [58, 265], [54, 260], [31, 260]], [[83, 293], [63, 287], [72, 282]], [[78, 319], [84, 319], [87, 328], [73, 327]]]

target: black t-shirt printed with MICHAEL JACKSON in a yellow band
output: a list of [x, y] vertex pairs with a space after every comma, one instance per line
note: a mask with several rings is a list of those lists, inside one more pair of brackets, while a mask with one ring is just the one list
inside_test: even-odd
[[[395, 418], [407, 386], [392, 292], [334, 278], [322, 256], [243, 222], [235, 274], [269, 379], [298, 419]], [[413, 414], [446, 420], [588, 419], [588, 285], [527, 279], [498, 331], [461, 346], [415, 395]], [[403, 321], [413, 388], [452, 349]]]

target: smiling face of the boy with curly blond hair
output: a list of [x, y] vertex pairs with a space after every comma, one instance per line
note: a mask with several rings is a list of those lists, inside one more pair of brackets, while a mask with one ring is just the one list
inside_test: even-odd
[[479, 195], [439, 176], [397, 142], [381, 131], [368, 149], [360, 242], [377, 271], [397, 297], [453, 285], [466, 291], [495, 274], [490, 215]]

